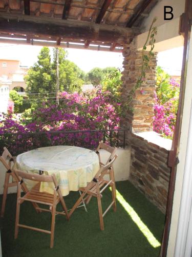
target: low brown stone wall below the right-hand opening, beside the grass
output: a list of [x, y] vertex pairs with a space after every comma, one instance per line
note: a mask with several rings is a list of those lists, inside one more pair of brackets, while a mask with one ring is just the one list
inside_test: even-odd
[[170, 168], [167, 167], [168, 150], [131, 134], [129, 180], [163, 213], [166, 210]]

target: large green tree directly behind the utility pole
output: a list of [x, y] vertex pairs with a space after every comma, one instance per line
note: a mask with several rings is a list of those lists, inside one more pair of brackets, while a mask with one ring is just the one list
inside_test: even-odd
[[[84, 72], [73, 62], [66, 60], [67, 52], [59, 48], [59, 90], [74, 91], [81, 87]], [[56, 99], [56, 48], [53, 49], [53, 61], [48, 47], [43, 47], [38, 61], [28, 70], [25, 76], [26, 92], [34, 107], [42, 101]]]

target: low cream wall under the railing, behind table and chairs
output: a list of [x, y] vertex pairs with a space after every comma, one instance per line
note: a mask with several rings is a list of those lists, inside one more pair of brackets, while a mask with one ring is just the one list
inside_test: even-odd
[[[130, 158], [131, 158], [131, 150], [130, 148], [117, 149], [118, 158], [114, 162], [114, 173], [115, 180], [127, 180], [130, 174]], [[102, 151], [101, 152], [101, 161], [105, 161], [109, 158], [109, 153]], [[5, 173], [6, 169], [3, 164], [0, 162], [0, 194], [3, 194], [3, 186], [5, 181]], [[9, 188], [9, 193], [16, 193], [16, 187]]]

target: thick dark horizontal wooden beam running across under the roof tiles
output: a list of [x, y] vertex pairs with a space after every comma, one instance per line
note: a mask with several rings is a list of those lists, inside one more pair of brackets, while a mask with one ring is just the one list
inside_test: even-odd
[[43, 38], [66, 38], [98, 42], [124, 42], [139, 34], [138, 29], [94, 24], [75, 20], [57, 20], [49, 17], [34, 17], [16, 13], [2, 13], [0, 32], [38, 35]]

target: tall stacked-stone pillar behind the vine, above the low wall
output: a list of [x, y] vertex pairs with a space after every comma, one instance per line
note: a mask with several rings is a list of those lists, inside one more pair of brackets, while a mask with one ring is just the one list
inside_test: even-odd
[[[130, 90], [135, 86], [137, 79], [141, 75], [142, 52], [136, 50], [136, 42], [125, 44], [123, 50], [123, 72], [122, 72], [122, 97], [126, 102]], [[132, 132], [153, 131], [153, 105], [154, 91], [156, 84], [156, 53], [150, 60], [150, 68], [146, 70], [146, 79], [141, 87], [136, 91], [132, 102], [133, 113], [126, 112], [126, 117], [122, 120], [121, 126], [131, 129]]]

